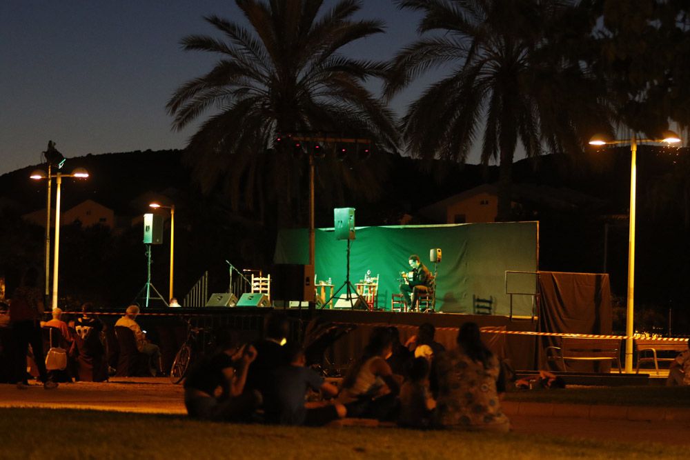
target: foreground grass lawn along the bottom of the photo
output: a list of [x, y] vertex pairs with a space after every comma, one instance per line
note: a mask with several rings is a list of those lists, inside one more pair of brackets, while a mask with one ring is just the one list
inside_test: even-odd
[[87, 410], [0, 409], [0, 457], [30, 459], [658, 459], [687, 448], [520, 434], [230, 425]]

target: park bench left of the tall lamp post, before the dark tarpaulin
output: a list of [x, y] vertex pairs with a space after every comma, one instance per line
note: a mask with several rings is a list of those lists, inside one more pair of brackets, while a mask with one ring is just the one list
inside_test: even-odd
[[546, 347], [546, 359], [560, 361], [567, 371], [566, 361], [615, 361], [620, 366], [619, 339], [588, 339], [585, 337], [562, 337], [561, 346]]

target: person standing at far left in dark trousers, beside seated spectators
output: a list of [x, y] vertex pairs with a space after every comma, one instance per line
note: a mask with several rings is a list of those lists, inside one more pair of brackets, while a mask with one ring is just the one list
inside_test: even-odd
[[39, 270], [28, 268], [21, 277], [19, 288], [12, 294], [10, 303], [10, 324], [14, 340], [16, 341], [17, 356], [15, 357], [14, 381], [17, 388], [28, 388], [26, 379], [26, 352], [28, 346], [34, 354], [34, 361], [39, 370], [39, 379], [43, 388], [52, 390], [57, 388], [57, 382], [52, 381], [46, 369], [46, 357], [43, 356], [43, 337], [41, 336], [41, 315], [43, 314], [43, 292], [39, 288]]

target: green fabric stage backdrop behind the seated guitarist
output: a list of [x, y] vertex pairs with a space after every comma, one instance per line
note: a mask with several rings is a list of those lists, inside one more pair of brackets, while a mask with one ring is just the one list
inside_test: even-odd
[[[433, 273], [429, 251], [441, 248], [437, 267], [436, 310], [474, 313], [473, 297], [493, 300], [493, 314], [509, 314], [506, 270], [536, 272], [538, 268], [538, 223], [463, 223], [441, 226], [362, 227], [351, 243], [350, 280], [364, 279], [366, 270], [379, 275], [377, 306], [391, 309], [391, 294], [398, 292], [399, 272], [409, 270], [408, 257], [418, 254]], [[346, 241], [335, 239], [333, 229], [316, 230], [317, 283], [328, 278], [335, 289], [346, 278]], [[308, 262], [308, 230], [281, 230], [275, 263]], [[509, 277], [513, 314], [532, 314], [536, 279], [531, 275]], [[342, 290], [344, 294], [345, 290]]]

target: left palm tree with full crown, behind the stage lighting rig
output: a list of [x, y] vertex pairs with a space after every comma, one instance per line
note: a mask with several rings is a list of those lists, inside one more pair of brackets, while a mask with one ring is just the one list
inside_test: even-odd
[[[206, 17], [223, 39], [190, 35], [184, 50], [218, 54], [212, 70], [177, 89], [168, 101], [181, 130], [204, 112], [213, 113], [193, 137], [186, 158], [204, 192], [230, 195], [233, 209], [264, 215], [277, 203], [279, 223], [294, 216], [304, 158], [273, 149], [281, 133], [342, 133], [395, 143], [391, 112], [364, 86], [382, 77], [384, 63], [339, 54], [344, 46], [383, 31], [380, 21], [352, 19], [358, 0], [340, 0], [322, 12], [323, 0], [235, 0], [250, 28]], [[319, 14], [322, 12], [322, 14]], [[332, 136], [333, 134], [331, 134]], [[327, 158], [319, 179], [371, 191], [370, 168], [351, 170]]]

